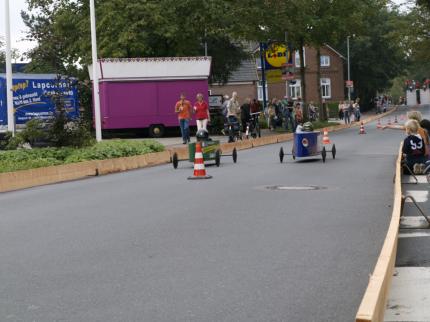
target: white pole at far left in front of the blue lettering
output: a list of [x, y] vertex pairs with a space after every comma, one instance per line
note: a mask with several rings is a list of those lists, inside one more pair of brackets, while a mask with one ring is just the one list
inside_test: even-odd
[[6, 97], [7, 97], [7, 130], [15, 136], [15, 115], [13, 108], [12, 91], [12, 52], [10, 40], [10, 10], [9, 0], [5, 0], [5, 24], [6, 24]]

